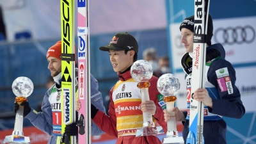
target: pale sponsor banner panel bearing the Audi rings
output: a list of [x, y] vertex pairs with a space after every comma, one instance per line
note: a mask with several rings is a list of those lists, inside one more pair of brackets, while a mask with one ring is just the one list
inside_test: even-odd
[[256, 17], [214, 19], [212, 44], [220, 43], [232, 64], [256, 61]]

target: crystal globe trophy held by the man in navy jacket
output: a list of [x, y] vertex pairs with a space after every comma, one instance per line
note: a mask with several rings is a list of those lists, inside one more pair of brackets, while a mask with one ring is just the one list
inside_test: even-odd
[[175, 95], [179, 89], [179, 79], [173, 74], [163, 74], [157, 81], [157, 90], [164, 95], [166, 110], [171, 115], [170, 120], [167, 122], [166, 138], [163, 139], [163, 143], [184, 143], [183, 138], [179, 136], [177, 131], [175, 113], [172, 111], [174, 102], [177, 99]]

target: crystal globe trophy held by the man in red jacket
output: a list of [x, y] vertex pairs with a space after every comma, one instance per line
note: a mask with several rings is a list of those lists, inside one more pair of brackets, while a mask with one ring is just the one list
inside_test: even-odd
[[[148, 80], [153, 75], [153, 69], [150, 63], [145, 60], [138, 60], [132, 64], [131, 76], [138, 82], [137, 87], [140, 88], [141, 92], [141, 102], [145, 102], [149, 99], [148, 87], [150, 83]], [[164, 133], [161, 126], [156, 127], [156, 124], [152, 121], [152, 115], [147, 112], [143, 112], [143, 127], [136, 131], [137, 136], [148, 136]]]

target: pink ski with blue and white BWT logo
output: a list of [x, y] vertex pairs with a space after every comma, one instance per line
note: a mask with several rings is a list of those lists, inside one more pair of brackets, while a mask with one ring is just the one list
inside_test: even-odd
[[78, 143], [91, 143], [89, 1], [77, 0], [78, 93], [81, 102]]

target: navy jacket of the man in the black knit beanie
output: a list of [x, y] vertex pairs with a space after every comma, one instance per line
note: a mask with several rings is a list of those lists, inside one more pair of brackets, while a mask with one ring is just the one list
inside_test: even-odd
[[[220, 56], [206, 62], [205, 68], [205, 88], [212, 98], [212, 108], [204, 106], [204, 143], [225, 144], [227, 124], [223, 116], [230, 118], [241, 118], [245, 109], [241, 101], [241, 95], [236, 87], [236, 71], [231, 63], [225, 60], [225, 50], [221, 44], [214, 44], [207, 47], [207, 52], [216, 49]], [[188, 72], [188, 71], [187, 71]], [[188, 74], [188, 73], [187, 73]], [[183, 138], [189, 132], [189, 106], [191, 100], [191, 74], [186, 76], [188, 92], [188, 110], [184, 112], [186, 121], [184, 123]]]

